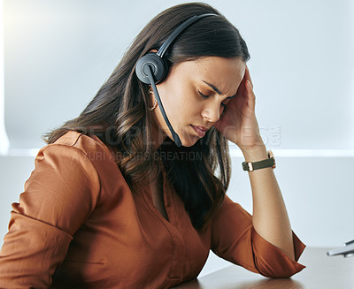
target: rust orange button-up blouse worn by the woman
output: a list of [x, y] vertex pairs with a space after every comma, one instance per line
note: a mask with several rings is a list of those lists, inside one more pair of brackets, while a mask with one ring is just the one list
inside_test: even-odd
[[[267, 277], [304, 269], [262, 239], [226, 197], [197, 232], [164, 175], [168, 221], [150, 187], [132, 194], [104, 143], [69, 132], [40, 150], [12, 204], [0, 251], [1, 288], [169, 288], [196, 278], [209, 250]], [[293, 233], [296, 261], [304, 244]]]

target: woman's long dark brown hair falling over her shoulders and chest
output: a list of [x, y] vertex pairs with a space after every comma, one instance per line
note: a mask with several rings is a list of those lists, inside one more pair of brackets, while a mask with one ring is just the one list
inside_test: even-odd
[[192, 147], [178, 148], [166, 138], [156, 150], [151, 142], [149, 87], [137, 79], [135, 64], [151, 49], [159, 49], [182, 22], [204, 13], [218, 16], [199, 19], [183, 31], [165, 54], [168, 64], [199, 57], [239, 57], [247, 62], [250, 54], [246, 43], [219, 11], [202, 3], [173, 6], [159, 13], [136, 36], [79, 117], [43, 135], [47, 143], [53, 143], [70, 130], [95, 134], [117, 156], [119, 170], [133, 192], [156, 178], [163, 165], [197, 230], [203, 229], [215, 214], [229, 185], [227, 139], [212, 127]]

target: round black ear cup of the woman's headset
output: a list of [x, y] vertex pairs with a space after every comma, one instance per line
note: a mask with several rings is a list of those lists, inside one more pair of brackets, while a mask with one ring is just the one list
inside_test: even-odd
[[146, 72], [148, 65], [151, 68], [155, 83], [158, 84], [165, 79], [165, 76], [168, 73], [168, 65], [163, 58], [156, 54], [156, 52], [149, 52], [140, 58], [135, 65], [135, 73], [139, 80], [143, 83], [150, 84], [150, 79]]

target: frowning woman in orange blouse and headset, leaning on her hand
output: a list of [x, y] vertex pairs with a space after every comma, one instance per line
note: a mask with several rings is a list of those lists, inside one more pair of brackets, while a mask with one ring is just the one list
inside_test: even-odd
[[[165, 79], [153, 61], [137, 64], [195, 15], [204, 16], [165, 51]], [[0, 287], [169, 288], [196, 278], [210, 249], [267, 277], [302, 270], [304, 244], [259, 134], [249, 57], [207, 4], [152, 19], [81, 115], [46, 135], [12, 204]], [[254, 165], [245, 164], [253, 216], [225, 194], [227, 141]]]

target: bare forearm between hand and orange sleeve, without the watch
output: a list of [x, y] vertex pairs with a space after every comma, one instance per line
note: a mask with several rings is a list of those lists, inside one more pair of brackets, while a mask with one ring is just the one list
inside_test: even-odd
[[[266, 146], [243, 150], [246, 162], [266, 159]], [[250, 171], [253, 199], [253, 226], [262, 238], [294, 260], [294, 246], [287, 209], [272, 167]]]

